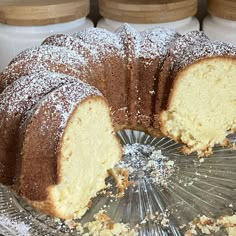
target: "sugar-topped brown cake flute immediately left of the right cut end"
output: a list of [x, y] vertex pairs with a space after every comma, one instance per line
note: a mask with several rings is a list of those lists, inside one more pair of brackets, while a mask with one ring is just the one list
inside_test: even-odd
[[139, 115], [138, 124], [150, 128], [153, 127], [153, 118], [156, 107], [159, 106], [159, 92], [157, 85], [160, 81], [163, 61], [170, 45], [179, 34], [170, 29], [158, 27], [141, 32], [140, 50], [138, 55], [140, 80], [138, 87]]

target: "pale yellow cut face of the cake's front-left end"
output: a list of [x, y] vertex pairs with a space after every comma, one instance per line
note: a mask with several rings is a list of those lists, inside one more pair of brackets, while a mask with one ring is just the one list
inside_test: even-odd
[[65, 130], [58, 163], [59, 184], [53, 189], [65, 216], [83, 215], [89, 199], [105, 187], [106, 170], [120, 157], [118, 145], [105, 101], [99, 97], [83, 101]]

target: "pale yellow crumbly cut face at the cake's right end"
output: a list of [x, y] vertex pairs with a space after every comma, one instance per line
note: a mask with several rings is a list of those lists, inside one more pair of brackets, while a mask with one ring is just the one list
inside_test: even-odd
[[236, 60], [206, 59], [179, 76], [161, 114], [162, 132], [185, 143], [187, 154], [209, 155], [236, 130]]

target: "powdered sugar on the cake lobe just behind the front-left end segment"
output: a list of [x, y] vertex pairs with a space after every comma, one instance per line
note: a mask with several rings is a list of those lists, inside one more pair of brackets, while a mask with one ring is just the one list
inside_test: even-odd
[[49, 71], [23, 76], [0, 94], [0, 112], [7, 112], [8, 115], [12, 112], [22, 113], [51, 90], [76, 80], [76, 78]]

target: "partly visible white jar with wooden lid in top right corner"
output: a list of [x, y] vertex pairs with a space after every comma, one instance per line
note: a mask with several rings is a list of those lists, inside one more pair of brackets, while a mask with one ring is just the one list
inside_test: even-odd
[[212, 40], [236, 45], [236, 1], [208, 1], [209, 15], [203, 20], [203, 31]]

